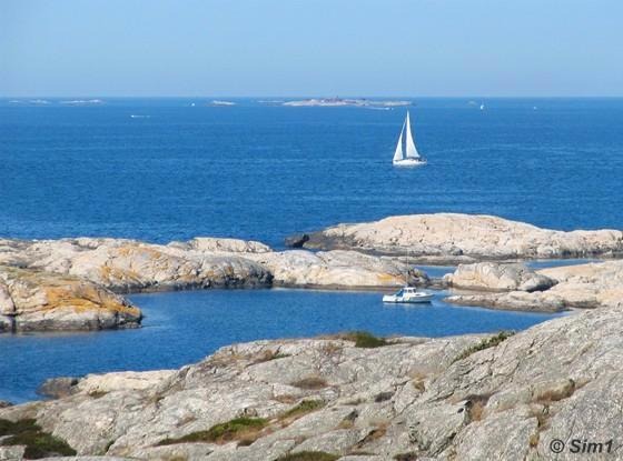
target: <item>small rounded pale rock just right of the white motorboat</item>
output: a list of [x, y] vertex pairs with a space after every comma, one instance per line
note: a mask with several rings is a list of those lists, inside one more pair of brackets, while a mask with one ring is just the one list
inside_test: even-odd
[[536, 273], [522, 263], [500, 264], [477, 262], [461, 264], [452, 274], [444, 277], [452, 288], [485, 291], [544, 291], [556, 282], [542, 273]]

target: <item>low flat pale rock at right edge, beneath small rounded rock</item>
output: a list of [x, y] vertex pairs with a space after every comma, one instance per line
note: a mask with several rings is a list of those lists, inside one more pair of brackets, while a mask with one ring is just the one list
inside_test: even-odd
[[[491, 273], [508, 273], [504, 270], [504, 264], [497, 265], [496, 269], [491, 270]], [[446, 280], [452, 281], [453, 284], [455, 275], [457, 275], [456, 280], [464, 280], [461, 273], [471, 274], [473, 269], [459, 267], [455, 274]], [[508, 289], [511, 291], [507, 292], [461, 293], [446, 298], [446, 301], [464, 305], [535, 311], [623, 308], [623, 261], [621, 260], [543, 269], [536, 274], [552, 280], [555, 284], [543, 291], [517, 291], [521, 290], [520, 279], [517, 279], [517, 288], [513, 288], [511, 283]], [[483, 289], [482, 284], [462, 285], [462, 288], [481, 291]]]

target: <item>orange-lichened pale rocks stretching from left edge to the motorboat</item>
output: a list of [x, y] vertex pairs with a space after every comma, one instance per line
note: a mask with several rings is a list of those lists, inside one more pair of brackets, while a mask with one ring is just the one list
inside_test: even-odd
[[[0, 240], [0, 332], [138, 325], [113, 293], [209, 288], [378, 289], [428, 278], [356, 251], [273, 251], [235, 239], [152, 244], [122, 239]], [[59, 292], [62, 291], [62, 293]]]

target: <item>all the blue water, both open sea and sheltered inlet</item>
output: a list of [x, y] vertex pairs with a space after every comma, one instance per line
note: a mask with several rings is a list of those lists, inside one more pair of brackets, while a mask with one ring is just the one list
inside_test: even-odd
[[[0, 237], [219, 235], [283, 248], [293, 232], [438, 211], [623, 229], [623, 99], [414, 99], [415, 139], [428, 159], [417, 169], [390, 162], [406, 108], [209, 101], [0, 100]], [[132, 295], [146, 314], [140, 330], [0, 335], [0, 399], [33, 399], [49, 377], [177, 368], [259, 338], [353, 329], [437, 337], [552, 318], [449, 307], [442, 297], [399, 308], [374, 292]]]

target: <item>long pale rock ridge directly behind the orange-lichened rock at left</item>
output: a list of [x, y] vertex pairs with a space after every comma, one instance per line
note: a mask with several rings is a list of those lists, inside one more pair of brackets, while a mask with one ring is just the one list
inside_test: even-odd
[[230, 239], [195, 239], [169, 245], [90, 238], [4, 241], [0, 262], [80, 277], [117, 292], [267, 287], [270, 273], [240, 257], [246, 248], [258, 251], [261, 247]]

